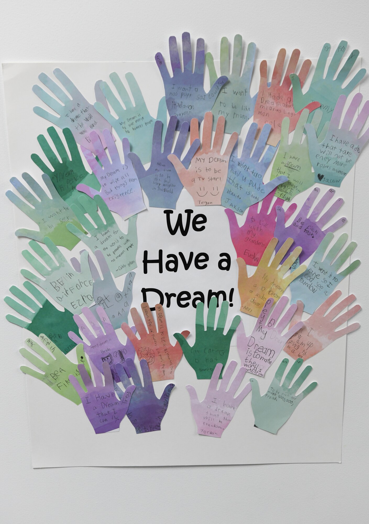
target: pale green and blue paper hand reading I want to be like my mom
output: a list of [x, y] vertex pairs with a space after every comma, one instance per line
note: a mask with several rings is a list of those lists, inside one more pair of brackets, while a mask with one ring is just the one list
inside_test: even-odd
[[[251, 78], [254, 71], [256, 45], [250, 42], [247, 46], [246, 60], [242, 69], [242, 36], [236, 35], [233, 42], [232, 73], [230, 72], [229, 42], [224, 36], [220, 42], [220, 72], [228, 77], [227, 84], [216, 97], [211, 112], [215, 119], [225, 116], [225, 132], [241, 133], [241, 129], [252, 118], [257, 98], [250, 94]], [[205, 54], [209, 69], [210, 84], [214, 84], [216, 74], [214, 59], [211, 53]]]

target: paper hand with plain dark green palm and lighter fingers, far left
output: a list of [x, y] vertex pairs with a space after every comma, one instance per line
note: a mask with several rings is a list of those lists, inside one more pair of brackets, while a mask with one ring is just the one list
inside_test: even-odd
[[41, 291], [31, 284], [31, 282], [28, 282], [28, 280], [23, 282], [23, 286], [39, 303], [31, 299], [31, 297], [21, 289], [12, 286], [9, 291], [30, 309], [25, 308], [23, 304], [20, 304], [12, 297], [5, 297], [4, 302], [6, 302], [10, 308], [13, 308], [14, 311], [28, 319], [29, 322], [13, 315], [6, 315], [6, 320], [12, 322], [12, 324], [17, 324], [21, 328], [28, 329], [28, 331], [34, 333], [36, 336], [39, 336], [41, 333], [46, 333], [48, 339], [54, 344], [58, 344], [60, 351], [67, 354], [75, 346], [69, 339], [68, 332], [74, 331], [74, 333], [78, 333], [78, 328], [73, 320], [72, 313], [67, 310], [60, 311], [57, 309], [55, 305], [49, 302]]

